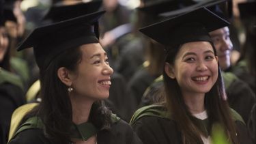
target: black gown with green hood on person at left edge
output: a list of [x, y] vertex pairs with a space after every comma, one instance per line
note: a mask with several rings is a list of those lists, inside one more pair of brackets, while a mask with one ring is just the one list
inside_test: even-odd
[[25, 96], [20, 78], [0, 70], [0, 144], [7, 143], [12, 112], [23, 104]]

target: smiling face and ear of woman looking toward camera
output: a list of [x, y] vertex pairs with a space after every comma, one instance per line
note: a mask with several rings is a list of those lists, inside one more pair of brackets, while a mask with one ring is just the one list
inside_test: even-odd
[[177, 80], [183, 95], [204, 94], [216, 83], [217, 61], [209, 42], [189, 42], [177, 52], [174, 66], [165, 64], [165, 72]]

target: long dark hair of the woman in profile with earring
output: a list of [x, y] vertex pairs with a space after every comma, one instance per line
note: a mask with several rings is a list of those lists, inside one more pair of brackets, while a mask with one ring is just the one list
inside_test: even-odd
[[[76, 72], [82, 58], [79, 47], [69, 48], [47, 66], [40, 70], [42, 102], [31, 113], [40, 117], [44, 123], [44, 134], [54, 143], [70, 142], [70, 126], [72, 125], [72, 104], [68, 95], [68, 87], [57, 76], [57, 70], [65, 67]], [[91, 106], [89, 120], [98, 129], [109, 128], [111, 111], [106, 109], [102, 100]]]

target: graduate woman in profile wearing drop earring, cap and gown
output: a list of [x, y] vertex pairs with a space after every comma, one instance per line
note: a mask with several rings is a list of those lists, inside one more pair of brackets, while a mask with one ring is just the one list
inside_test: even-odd
[[113, 74], [98, 41], [102, 14], [39, 27], [18, 47], [33, 46], [42, 102], [24, 117], [10, 144], [141, 143], [102, 102]]

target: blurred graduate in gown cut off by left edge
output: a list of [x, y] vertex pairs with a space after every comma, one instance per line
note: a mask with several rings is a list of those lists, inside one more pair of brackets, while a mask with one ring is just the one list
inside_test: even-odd
[[5, 27], [8, 14], [0, 13], [0, 143], [7, 143], [12, 113], [25, 104], [25, 96], [23, 81], [10, 64], [10, 40]]

